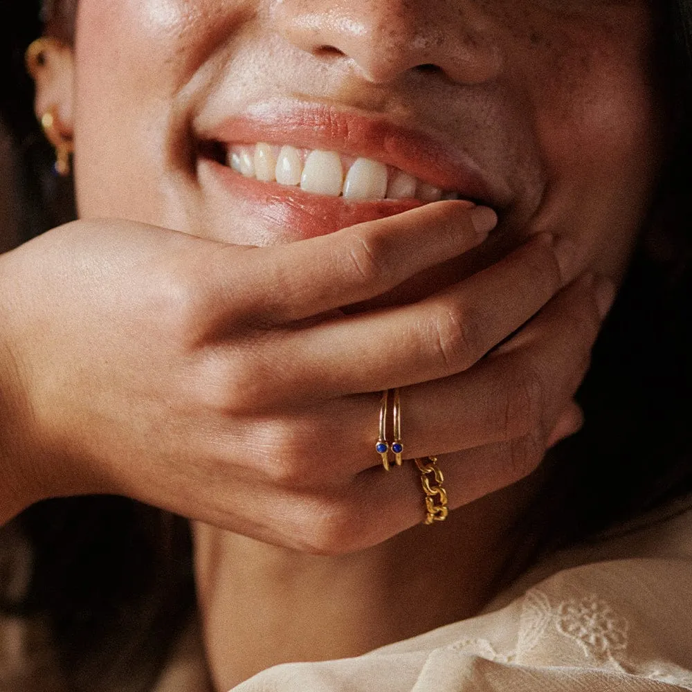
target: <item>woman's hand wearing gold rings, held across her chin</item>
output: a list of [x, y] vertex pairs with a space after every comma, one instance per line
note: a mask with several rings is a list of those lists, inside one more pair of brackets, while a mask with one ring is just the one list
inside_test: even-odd
[[[480, 358], [570, 282], [576, 263], [561, 273], [556, 248], [539, 239], [417, 304], [339, 310], [481, 242], [492, 214], [478, 233], [474, 213], [483, 220], [439, 203], [269, 248], [80, 221], [4, 255], [2, 354], [14, 365], [0, 356], [12, 402], [0, 434], [13, 475], [31, 488], [24, 504], [118, 493], [280, 545], [371, 545], [421, 518], [418, 489], [385, 474], [374, 452], [379, 390], [395, 386], [405, 388], [409, 455], [484, 450], [492, 472], [478, 492], [515, 480], [538, 462], [539, 440], [581, 380], [586, 357], [575, 354], [588, 354], [597, 331], [594, 292], [574, 286], [529, 325], [535, 341]], [[544, 324], [552, 313], [557, 330]], [[588, 325], [567, 347], [563, 325], [577, 313]], [[545, 331], [562, 336], [539, 338]], [[530, 390], [521, 374], [507, 377], [527, 363], [540, 374]], [[486, 392], [471, 424], [466, 378]], [[529, 433], [492, 411], [538, 381], [540, 402], [523, 419], [536, 446], [525, 465], [507, 464], [508, 440]], [[473, 487], [471, 466], [455, 464], [459, 488]], [[387, 513], [368, 509], [383, 498], [397, 511], [369, 520]]]

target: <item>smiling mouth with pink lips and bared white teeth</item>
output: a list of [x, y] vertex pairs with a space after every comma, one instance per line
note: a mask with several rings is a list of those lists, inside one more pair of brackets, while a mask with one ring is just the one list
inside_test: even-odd
[[219, 226], [241, 215], [251, 244], [327, 235], [437, 200], [501, 209], [508, 199], [461, 143], [383, 116], [291, 100], [229, 115], [221, 104], [192, 122], [194, 175]]

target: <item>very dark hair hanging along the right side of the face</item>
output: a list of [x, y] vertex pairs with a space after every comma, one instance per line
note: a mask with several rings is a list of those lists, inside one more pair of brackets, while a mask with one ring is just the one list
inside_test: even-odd
[[579, 391], [585, 426], [549, 455], [562, 540], [692, 491], [692, 2], [656, 10], [671, 154]]

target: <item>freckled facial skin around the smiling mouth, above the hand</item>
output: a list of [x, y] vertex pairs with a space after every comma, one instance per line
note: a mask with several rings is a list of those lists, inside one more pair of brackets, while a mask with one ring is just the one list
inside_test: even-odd
[[608, 228], [617, 251], [598, 268], [617, 273], [659, 155], [648, 24], [644, 2], [83, 0], [80, 209], [233, 242], [271, 235], [260, 218], [230, 228], [237, 203], [195, 187], [188, 124], [221, 89], [233, 111], [293, 95], [463, 143], [512, 190], [498, 252], [588, 227], [595, 257]]

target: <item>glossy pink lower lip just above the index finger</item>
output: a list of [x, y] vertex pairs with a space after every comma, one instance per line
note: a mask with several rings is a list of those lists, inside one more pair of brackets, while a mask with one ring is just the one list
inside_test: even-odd
[[348, 201], [343, 197], [326, 197], [303, 192], [297, 187], [246, 178], [209, 158], [200, 159], [199, 165], [208, 167], [212, 176], [228, 190], [233, 199], [244, 202], [248, 211], [255, 213], [269, 226], [279, 227], [282, 237], [290, 240], [335, 233], [348, 226], [384, 219], [424, 204], [417, 199]]

